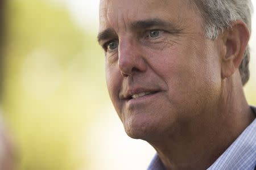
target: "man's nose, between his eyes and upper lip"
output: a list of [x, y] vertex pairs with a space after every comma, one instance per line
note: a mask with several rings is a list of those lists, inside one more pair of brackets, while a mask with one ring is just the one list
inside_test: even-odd
[[146, 58], [137, 42], [127, 39], [119, 40], [118, 48], [118, 67], [123, 77], [147, 70]]

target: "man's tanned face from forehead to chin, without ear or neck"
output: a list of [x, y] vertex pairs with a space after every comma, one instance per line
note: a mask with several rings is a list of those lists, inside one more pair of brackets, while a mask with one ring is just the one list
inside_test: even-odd
[[171, 134], [217, 104], [220, 45], [202, 25], [186, 0], [101, 1], [106, 82], [130, 137]]

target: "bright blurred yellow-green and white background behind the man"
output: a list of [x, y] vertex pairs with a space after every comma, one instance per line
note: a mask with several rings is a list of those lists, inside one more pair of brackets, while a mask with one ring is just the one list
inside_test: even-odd
[[[2, 108], [19, 170], [145, 169], [154, 155], [126, 137], [109, 101], [97, 8], [93, 0], [7, 3]], [[245, 91], [256, 105], [254, 34], [250, 44]]]

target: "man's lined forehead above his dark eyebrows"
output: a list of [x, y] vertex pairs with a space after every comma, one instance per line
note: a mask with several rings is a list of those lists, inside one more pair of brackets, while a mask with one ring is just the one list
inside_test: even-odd
[[135, 20], [161, 18], [175, 22], [191, 16], [191, 0], [101, 0], [100, 31], [119, 29]]

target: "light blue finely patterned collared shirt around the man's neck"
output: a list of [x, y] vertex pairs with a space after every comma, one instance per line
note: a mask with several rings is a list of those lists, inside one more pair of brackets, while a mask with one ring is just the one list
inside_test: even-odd
[[[256, 114], [256, 108], [252, 109]], [[207, 170], [253, 170], [254, 168], [256, 169], [256, 119]], [[147, 170], [164, 169], [164, 165], [157, 154], [147, 168]]]

